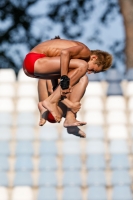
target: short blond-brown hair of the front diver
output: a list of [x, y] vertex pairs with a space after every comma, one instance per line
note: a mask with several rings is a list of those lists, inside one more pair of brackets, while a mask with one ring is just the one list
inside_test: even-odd
[[98, 66], [102, 65], [102, 71], [106, 71], [111, 67], [113, 57], [108, 52], [101, 50], [91, 50], [91, 55], [96, 55], [98, 57], [96, 64]]

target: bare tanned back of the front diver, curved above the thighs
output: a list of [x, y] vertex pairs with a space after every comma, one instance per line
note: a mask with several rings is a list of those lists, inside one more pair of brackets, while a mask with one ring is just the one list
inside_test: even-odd
[[90, 56], [89, 48], [81, 42], [64, 40], [64, 39], [55, 39], [42, 42], [35, 46], [30, 52], [42, 53], [47, 57], [57, 57], [61, 55], [63, 49], [68, 49], [74, 46], [82, 46], [84, 48], [84, 54], [75, 55], [73, 58], [80, 58], [83, 60], [88, 60]]

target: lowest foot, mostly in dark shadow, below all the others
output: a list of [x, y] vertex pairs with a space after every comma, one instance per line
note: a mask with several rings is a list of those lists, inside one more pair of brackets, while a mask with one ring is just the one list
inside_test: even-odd
[[82, 137], [82, 138], [86, 137], [86, 134], [81, 129], [79, 129], [77, 126], [68, 127], [67, 132], [69, 134], [73, 134], [78, 137]]

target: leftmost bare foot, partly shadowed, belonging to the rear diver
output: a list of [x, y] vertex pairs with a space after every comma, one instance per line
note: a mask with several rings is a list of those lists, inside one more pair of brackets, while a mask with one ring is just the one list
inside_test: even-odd
[[42, 106], [42, 102], [38, 103], [38, 109], [40, 111], [40, 121], [39, 126], [43, 126], [47, 120], [48, 110]]

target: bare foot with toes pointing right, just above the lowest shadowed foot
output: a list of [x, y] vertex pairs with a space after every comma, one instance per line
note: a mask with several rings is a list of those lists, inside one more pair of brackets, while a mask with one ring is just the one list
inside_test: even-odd
[[65, 119], [63, 125], [65, 128], [68, 128], [68, 127], [73, 127], [73, 126], [84, 126], [86, 124], [87, 124], [86, 122], [80, 122], [80, 121], [76, 120], [75, 118], [72, 118], [69, 120]]

